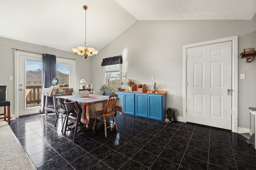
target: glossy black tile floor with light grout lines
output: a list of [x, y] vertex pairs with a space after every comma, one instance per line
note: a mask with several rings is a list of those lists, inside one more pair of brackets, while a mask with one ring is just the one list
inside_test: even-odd
[[11, 128], [39, 170], [224, 170], [256, 169], [256, 151], [246, 138], [226, 130], [188, 123], [164, 123], [117, 115], [118, 132], [102, 126], [72, 142], [62, 135], [54, 115], [30, 115], [11, 121]]

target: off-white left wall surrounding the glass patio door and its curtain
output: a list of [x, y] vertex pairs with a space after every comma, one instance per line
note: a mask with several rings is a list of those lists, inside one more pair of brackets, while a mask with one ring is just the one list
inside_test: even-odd
[[[78, 93], [78, 89], [80, 88], [79, 82], [82, 78], [84, 78], [86, 82], [91, 81], [92, 61], [90, 59], [84, 60], [72, 52], [0, 37], [0, 85], [7, 85], [7, 99], [11, 102], [10, 112], [13, 117], [15, 115], [14, 91], [18, 89], [14, 89], [14, 50], [11, 48], [22, 49], [36, 53], [48, 53], [56, 55], [57, 57], [76, 59], [76, 87], [74, 87], [76, 93]], [[13, 80], [9, 80], [9, 76], [13, 76]]]

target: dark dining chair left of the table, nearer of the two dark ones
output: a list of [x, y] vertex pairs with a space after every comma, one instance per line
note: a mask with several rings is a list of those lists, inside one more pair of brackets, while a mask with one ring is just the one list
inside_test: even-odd
[[78, 104], [77, 101], [74, 102], [68, 102], [67, 100], [64, 101], [67, 112], [67, 118], [66, 118], [66, 126], [64, 130], [64, 135], [66, 135], [66, 130], [68, 127], [68, 121], [71, 121], [75, 124], [75, 131], [74, 131], [74, 138], [73, 142], [76, 141], [76, 135], [78, 134], [78, 126], [80, 125], [81, 115], [82, 115], [82, 108]]

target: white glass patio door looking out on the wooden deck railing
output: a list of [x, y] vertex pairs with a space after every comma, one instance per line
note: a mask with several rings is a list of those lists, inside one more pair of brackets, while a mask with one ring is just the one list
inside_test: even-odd
[[18, 116], [40, 113], [42, 55], [15, 52], [18, 55]]

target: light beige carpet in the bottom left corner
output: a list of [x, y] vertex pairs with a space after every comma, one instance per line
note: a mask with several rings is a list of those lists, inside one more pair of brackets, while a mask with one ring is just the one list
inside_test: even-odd
[[0, 170], [36, 170], [6, 121], [0, 121]]

